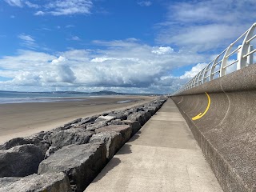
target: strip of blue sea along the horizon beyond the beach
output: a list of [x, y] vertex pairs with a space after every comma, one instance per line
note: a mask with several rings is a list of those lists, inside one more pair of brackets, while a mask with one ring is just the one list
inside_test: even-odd
[[[79, 102], [90, 98], [90, 94], [28, 93], [0, 91], [0, 104], [22, 102]], [[63, 100], [62, 98], [66, 98]]]

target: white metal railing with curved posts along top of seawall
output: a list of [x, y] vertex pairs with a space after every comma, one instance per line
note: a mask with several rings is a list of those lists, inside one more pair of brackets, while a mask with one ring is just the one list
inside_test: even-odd
[[[256, 34], [254, 30], [256, 27], [256, 22], [246, 30], [237, 40], [232, 42], [221, 54], [218, 54], [213, 61], [203, 68], [194, 78], [191, 78], [182, 88], [177, 90], [173, 95], [181, 93], [184, 90], [190, 90], [195, 86], [202, 85], [205, 82], [210, 82], [215, 78], [220, 78], [227, 74], [228, 68], [236, 64], [236, 69], [240, 70], [243, 67], [251, 65], [254, 63], [254, 46], [251, 45]], [[238, 46], [236, 46], [238, 45]], [[237, 47], [237, 48], [235, 48]], [[234, 57], [236, 56], [236, 59]]]

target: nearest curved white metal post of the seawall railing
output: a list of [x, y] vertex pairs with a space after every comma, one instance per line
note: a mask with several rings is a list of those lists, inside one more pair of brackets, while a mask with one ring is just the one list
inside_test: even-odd
[[254, 23], [254, 25], [250, 27], [250, 30], [248, 30], [246, 37], [243, 39], [241, 54], [239, 55], [239, 58], [238, 58], [237, 70], [240, 70], [246, 66], [247, 58], [243, 58], [243, 55], [248, 53], [250, 42], [247, 42], [247, 40], [253, 37], [255, 26], [256, 26], [256, 23]]

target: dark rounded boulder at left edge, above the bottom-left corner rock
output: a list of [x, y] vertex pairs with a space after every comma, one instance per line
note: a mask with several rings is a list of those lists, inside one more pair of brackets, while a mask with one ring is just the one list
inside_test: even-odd
[[34, 174], [44, 156], [40, 147], [33, 144], [0, 150], [0, 178], [24, 177]]

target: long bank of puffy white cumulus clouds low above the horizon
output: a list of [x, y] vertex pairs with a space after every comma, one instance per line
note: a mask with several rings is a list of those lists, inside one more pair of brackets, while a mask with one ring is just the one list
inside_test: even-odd
[[8, 84], [34, 85], [38, 90], [70, 86], [85, 91], [105, 87], [122, 92], [170, 93], [181, 84], [179, 78], [170, 76], [177, 61], [179, 66], [186, 66], [205, 59], [199, 54], [180, 54], [168, 46], [137, 43], [120, 49], [116, 42], [124, 45], [127, 41], [104, 42], [113, 46], [102, 50], [68, 50], [58, 55], [23, 50], [17, 56], [0, 58], [0, 76], [12, 78], [1, 82], [0, 89]]

